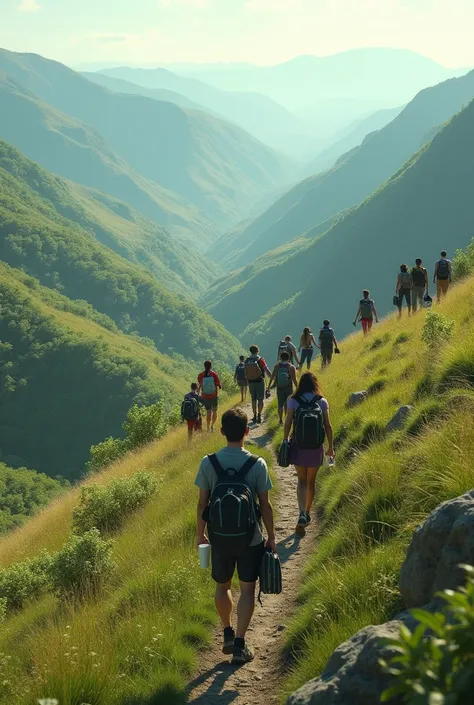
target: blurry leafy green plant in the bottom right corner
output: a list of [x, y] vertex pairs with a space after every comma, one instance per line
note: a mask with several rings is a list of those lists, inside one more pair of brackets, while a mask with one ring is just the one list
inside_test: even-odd
[[419, 624], [413, 633], [402, 626], [399, 639], [385, 643], [395, 649], [387, 664], [381, 661], [394, 684], [382, 702], [403, 696], [408, 705], [466, 705], [474, 691], [474, 569], [464, 566], [466, 588], [440, 593], [445, 602], [431, 614], [412, 610]]

